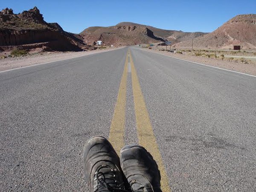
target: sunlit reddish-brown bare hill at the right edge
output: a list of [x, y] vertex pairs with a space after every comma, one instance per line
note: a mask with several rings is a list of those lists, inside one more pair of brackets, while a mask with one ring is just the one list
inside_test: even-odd
[[[256, 15], [237, 15], [215, 31], [195, 38], [194, 48], [229, 49], [241, 45], [244, 49], [256, 48]], [[175, 47], [191, 47], [192, 41], [183, 41]]]

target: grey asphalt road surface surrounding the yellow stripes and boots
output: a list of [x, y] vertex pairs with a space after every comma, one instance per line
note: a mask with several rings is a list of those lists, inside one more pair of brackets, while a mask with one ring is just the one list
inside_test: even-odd
[[[129, 49], [171, 190], [255, 191], [256, 77]], [[0, 191], [87, 191], [83, 145], [109, 137], [127, 52], [0, 73]]]

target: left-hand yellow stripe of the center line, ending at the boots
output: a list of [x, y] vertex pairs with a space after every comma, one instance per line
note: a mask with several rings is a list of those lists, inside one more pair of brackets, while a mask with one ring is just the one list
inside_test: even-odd
[[124, 146], [127, 65], [128, 53], [126, 55], [125, 68], [119, 86], [116, 107], [113, 114], [108, 138], [109, 142], [113, 145], [113, 148], [118, 154], [121, 148]]

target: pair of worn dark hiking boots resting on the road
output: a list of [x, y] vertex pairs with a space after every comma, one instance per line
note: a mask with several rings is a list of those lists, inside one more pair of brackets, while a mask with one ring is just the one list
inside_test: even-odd
[[162, 192], [157, 163], [140, 145], [125, 146], [119, 159], [108, 140], [92, 137], [83, 158], [90, 192]]

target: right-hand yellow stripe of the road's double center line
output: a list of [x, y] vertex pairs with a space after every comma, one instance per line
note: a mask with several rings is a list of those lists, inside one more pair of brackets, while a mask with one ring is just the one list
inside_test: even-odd
[[139, 138], [139, 144], [145, 147], [151, 155], [154, 157], [154, 160], [157, 162], [158, 169], [161, 173], [161, 189], [163, 192], [171, 192], [168, 183], [168, 177], [166, 170], [163, 165], [162, 156], [157, 145], [156, 138], [154, 136], [154, 131], [150, 122], [148, 115], [148, 110], [145, 105], [143, 94], [140, 88], [139, 79], [137, 77], [137, 72], [134, 67], [134, 62], [130, 54], [131, 62], [131, 78], [132, 78], [132, 87], [134, 94], [134, 107], [135, 107], [135, 116], [137, 122], [137, 134]]

